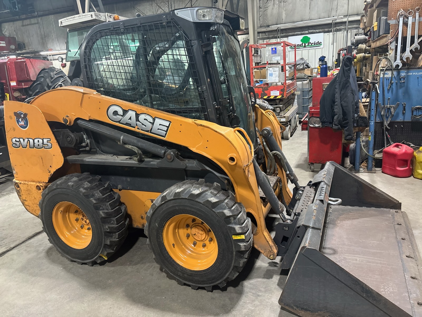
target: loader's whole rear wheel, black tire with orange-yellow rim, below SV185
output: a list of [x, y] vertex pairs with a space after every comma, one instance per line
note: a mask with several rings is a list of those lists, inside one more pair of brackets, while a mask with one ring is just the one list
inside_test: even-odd
[[63, 176], [43, 191], [39, 205], [50, 243], [78, 264], [107, 260], [127, 236], [126, 206], [100, 176]]

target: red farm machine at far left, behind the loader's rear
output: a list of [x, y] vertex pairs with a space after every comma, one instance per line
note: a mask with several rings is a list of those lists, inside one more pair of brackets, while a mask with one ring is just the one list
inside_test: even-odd
[[23, 101], [28, 96], [27, 88], [37, 79], [43, 68], [53, 66], [48, 60], [24, 57], [0, 59], [0, 82], [3, 83], [5, 99]]

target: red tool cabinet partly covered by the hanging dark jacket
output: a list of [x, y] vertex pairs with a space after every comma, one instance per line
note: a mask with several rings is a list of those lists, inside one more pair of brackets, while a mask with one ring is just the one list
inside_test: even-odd
[[319, 121], [319, 101], [325, 87], [334, 77], [312, 79], [312, 105], [308, 114], [308, 164], [314, 171], [314, 164], [334, 161], [341, 164], [343, 158], [343, 132], [330, 127], [321, 127]]

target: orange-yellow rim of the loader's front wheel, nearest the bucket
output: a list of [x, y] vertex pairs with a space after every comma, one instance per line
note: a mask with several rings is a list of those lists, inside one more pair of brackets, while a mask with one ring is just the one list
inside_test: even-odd
[[162, 232], [165, 249], [184, 268], [202, 271], [217, 259], [214, 233], [201, 219], [181, 214], [169, 219]]

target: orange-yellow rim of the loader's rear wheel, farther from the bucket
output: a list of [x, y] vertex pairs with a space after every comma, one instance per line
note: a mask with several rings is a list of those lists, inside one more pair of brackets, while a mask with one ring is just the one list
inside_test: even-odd
[[84, 249], [92, 240], [92, 228], [85, 213], [71, 202], [59, 202], [53, 208], [54, 230], [73, 249]]

